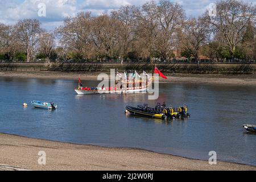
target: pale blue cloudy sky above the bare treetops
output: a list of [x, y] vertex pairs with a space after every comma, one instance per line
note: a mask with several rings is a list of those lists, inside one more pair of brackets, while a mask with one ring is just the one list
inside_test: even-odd
[[[124, 5], [141, 6], [148, 0], [0, 0], [0, 23], [14, 24], [19, 19], [36, 18], [46, 30], [61, 25], [67, 16], [75, 16], [80, 11], [90, 11], [93, 15], [110, 13]], [[216, 0], [172, 0], [183, 6], [187, 17], [197, 17], [205, 12]], [[243, 0], [256, 3], [256, 0]], [[46, 11], [44, 10], [44, 5]], [[41, 10], [41, 11], [40, 11]], [[46, 12], [44, 16], [44, 12]], [[40, 14], [40, 16], [38, 15]]]

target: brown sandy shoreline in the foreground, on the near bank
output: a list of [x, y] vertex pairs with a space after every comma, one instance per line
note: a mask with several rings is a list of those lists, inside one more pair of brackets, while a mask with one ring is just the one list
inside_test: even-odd
[[[0, 134], [1, 170], [256, 170], [236, 163], [181, 158], [132, 148], [99, 147]], [[38, 152], [46, 152], [46, 165]]]

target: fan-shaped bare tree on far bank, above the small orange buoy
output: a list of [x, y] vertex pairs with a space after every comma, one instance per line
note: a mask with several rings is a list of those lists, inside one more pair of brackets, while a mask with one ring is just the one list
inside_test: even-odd
[[40, 22], [36, 19], [19, 20], [15, 25], [16, 35], [26, 50], [27, 61], [31, 61], [38, 47], [39, 35], [42, 32]]

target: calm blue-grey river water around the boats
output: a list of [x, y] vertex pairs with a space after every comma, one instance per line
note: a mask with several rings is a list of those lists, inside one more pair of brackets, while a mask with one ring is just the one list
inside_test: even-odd
[[[95, 86], [97, 81], [84, 81]], [[256, 135], [243, 124], [256, 124], [255, 86], [160, 83], [158, 100], [147, 94], [77, 96], [77, 80], [0, 78], [0, 133], [61, 142], [133, 147], [256, 166]], [[54, 101], [54, 111], [23, 102]], [[165, 122], [129, 116], [125, 106], [165, 101], [188, 105], [191, 118]]]

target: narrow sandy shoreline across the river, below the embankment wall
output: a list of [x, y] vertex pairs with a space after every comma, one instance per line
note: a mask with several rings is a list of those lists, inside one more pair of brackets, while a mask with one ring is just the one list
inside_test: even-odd
[[[97, 80], [97, 72], [88, 73], [66, 73], [66, 72], [18, 72], [0, 71], [0, 77], [19, 77], [19, 78], [50, 78], [77, 80], [80, 74], [81, 80]], [[163, 82], [192, 83], [192, 84], [219, 84], [219, 85], [251, 85], [256, 86], [256, 75], [193, 75], [176, 74], [167, 75], [167, 80]]]

